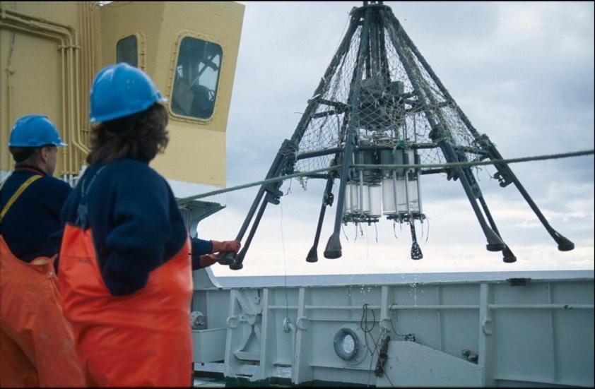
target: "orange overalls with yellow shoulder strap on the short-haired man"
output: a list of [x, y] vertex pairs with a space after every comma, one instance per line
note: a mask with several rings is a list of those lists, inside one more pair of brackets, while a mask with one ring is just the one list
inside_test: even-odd
[[[10, 205], [32, 176], [6, 204]], [[85, 384], [73, 331], [61, 306], [54, 257], [20, 261], [0, 235], [0, 387], [80, 387]]]

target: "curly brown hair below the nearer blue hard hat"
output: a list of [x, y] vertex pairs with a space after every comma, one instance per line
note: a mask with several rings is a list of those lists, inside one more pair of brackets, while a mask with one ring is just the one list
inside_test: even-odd
[[138, 114], [104, 121], [91, 130], [87, 162], [133, 158], [148, 163], [167, 147], [170, 138], [166, 127], [167, 111], [158, 103]]

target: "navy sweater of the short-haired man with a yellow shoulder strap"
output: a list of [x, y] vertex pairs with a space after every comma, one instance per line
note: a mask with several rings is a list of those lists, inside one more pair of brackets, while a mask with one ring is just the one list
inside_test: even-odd
[[37, 167], [20, 166], [0, 190], [0, 209], [4, 208], [23, 182], [35, 174], [42, 178], [30, 184], [0, 224], [0, 234], [8, 248], [25, 262], [31, 262], [39, 256], [54, 256], [59, 250], [59, 241], [50, 240], [49, 237], [52, 234], [59, 236], [60, 209], [71, 192], [69, 184], [48, 176]]

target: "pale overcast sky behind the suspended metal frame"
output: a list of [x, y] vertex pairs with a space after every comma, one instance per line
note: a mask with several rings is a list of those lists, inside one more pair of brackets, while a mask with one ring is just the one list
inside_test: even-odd
[[[525, 157], [594, 145], [594, 4], [410, 3], [386, 1], [473, 126], [487, 133], [504, 157]], [[264, 179], [290, 138], [361, 2], [246, 3], [227, 128], [228, 186]], [[517, 263], [485, 250], [485, 237], [459, 181], [423, 176], [428, 222], [424, 258], [409, 258], [411, 238], [392, 222], [363, 236], [348, 225], [343, 257], [324, 258], [336, 208], [328, 209], [319, 262], [306, 263], [324, 182], [303, 191], [286, 182], [281, 205], [269, 205], [243, 270], [213, 265], [216, 275], [416, 273], [594, 268], [594, 160], [575, 157], [512, 164], [550, 224], [574, 241], [558, 251], [514, 185], [500, 188], [484, 168], [479, 184]], [[335, 188], [338, 185], [335, 186]], [[233, 239], [257, 188], [219, 198], [225, 210], [199, 225], [205, 239]], [[336, 190], [335, 190], [336, 192]], [[193, 193], [185, 193], [189, 196]], [[396, 236], [395, 236], [396, 235]], [[346, 239], [347, 237], [347, 239]]]

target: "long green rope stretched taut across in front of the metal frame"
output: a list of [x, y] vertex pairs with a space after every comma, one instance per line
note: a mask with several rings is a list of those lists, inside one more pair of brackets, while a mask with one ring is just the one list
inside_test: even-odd
[[[480, 165], [488, 165], [488, 164], [511, 164], [511, 163], [517, 163], [517, 162], [557, 160], [560, 158], [581, 157], [584, 155], [593, 155], [593, 154], [595, 154], [595, 150], [582, 150], [582, 151], [575, 151], [575, 152], [565, 152], [565, 153], [561, 153], [561, 154], [535, 155], [533, 157], [512, 158], [509, 160], [449, 162], [449, 163], [444, 163], [444, 164], [353, 164], [353, 165], [351, 165], [351, 167], [357, 167], [360, 169], [403, 169], [403, 168], [432, 169], [432, 168], [440, 168], [440, 167], [471, 167], [471, 166], [480, 166]], [[222, 194], [222, 193], [227, 193], [227, 192], [231, 192], [231, 191], [239, 191], [240, 189], [250, 188], [251, 186], [270, 184], [272, 182], [284, 181], [286, 179], [293, 179], [293, 178], [297, 178], [297, 177], [301, 177], [301, 176], [308, 176], [310, 174], [329, 172], [331, 170], [337, 170], [337, 169], [341, 169], [341, 165], [335, 164], [330, 167], [311, 170], [310, 172], [299, 172], [299, 173], [294, 173], [294, 174], [288, 174], [286, 176], [273, 177], [271, 179], [264, 179], [261, 181], [251, 182], [249, 184], [232, 186], [231, 188], [225, 188], [225, 189], [219, 189], [217, 191], [201, 193], [199, 195], [180, 198], [177, 201], [177, 203], [178, 203], [178, 205], [183, 205], [185, 203], [189, 203], [189, 202], [199, 199], [199, 198], [216, 196], [216, 195]]]

